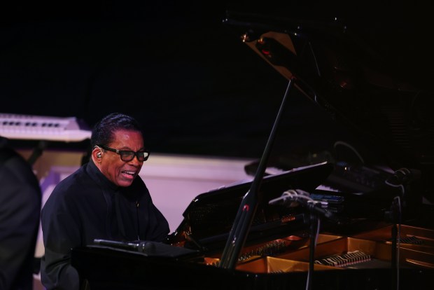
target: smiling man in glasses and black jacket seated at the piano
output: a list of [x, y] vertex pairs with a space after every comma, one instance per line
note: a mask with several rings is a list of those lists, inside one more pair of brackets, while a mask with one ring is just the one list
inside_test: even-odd
[[149, 152], [134, 118], [111, 113], [94, 126], [88, 163], [57, 184], [42, 209], [46, 289], [80, 289], [71, 249], [94, 239], [163, 242], [169, 223], [139, 177]]

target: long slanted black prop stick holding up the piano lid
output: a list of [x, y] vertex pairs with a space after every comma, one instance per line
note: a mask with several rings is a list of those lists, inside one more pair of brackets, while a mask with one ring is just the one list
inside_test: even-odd
[[272, 131], [269, 134], [265, 150], [262, 153], [262, 157], [260, 159], [260, 163], [258, 165], [258, 169], [256, 170], [251, 187], [241, 200], [241, 205], [239, 206], [237, 215], [235, 216], [235, 221], [232, 229], [230, 230], [228, 241], [226, 242], [225, 249], [223, 249], [223, 254], [219, 263], [219, 267], [221, 268], [230, 270], [235, 268], [235, 264], [239, 259], [240, 251], [246, 242], [248, 231], [250, 230], [253, 217], [255, 216], [256, 209], [258, 208], [258, 202], [261, 200], [260, 185], [262, 184], [262, 179], [265, 174], [265, 170], [267, 169], [267, 162], [272, 145], [274, 144], [277, 127], [283, 114], [286, 99], [288, 98], [290, 89], [293, 88], [294, 82], [295, 78], [291, 77], [288, 87], [286, 88], [285, 95], [283, 95], [279, 112], [277, 113], [276, 120], [274, 120]]

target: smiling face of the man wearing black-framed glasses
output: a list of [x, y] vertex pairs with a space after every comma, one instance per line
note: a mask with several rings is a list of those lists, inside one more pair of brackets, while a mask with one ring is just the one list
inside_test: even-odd
[[[145, 149], [141, 132], [127, 130], [116, 131], [113, 142], [104, 145], [113, 149], [134, 152]], [[118, 153], [106, 150], [102, 153], [101, 163], [98, 167], [113, 184], [125, 187], [132, 184], [142, 165], [143, 161], [137, 160], [137, 156], [134, 156], [131, 161], [123, 161]]]

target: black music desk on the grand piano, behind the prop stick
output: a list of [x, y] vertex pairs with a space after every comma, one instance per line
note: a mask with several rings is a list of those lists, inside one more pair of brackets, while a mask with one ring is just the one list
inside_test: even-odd
[[[332, 170], [332, 164], [319, 163], [264, 177], [262, 200], [258, 203], [247, 242], [284, 237], [303, 227], [304, 214], [300, 207], [268, 205], [269, 200], [280, 197], [289, 189], [314, 191]], [[169, 237], [169, 243], [207, 253], [221, 251], [251, 183], [241, 182], [197, 195], [183, 213], [184, 219]]]

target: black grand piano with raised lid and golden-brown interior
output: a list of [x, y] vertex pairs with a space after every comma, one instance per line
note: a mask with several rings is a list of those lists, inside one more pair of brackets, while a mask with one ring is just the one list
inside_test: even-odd
[[224, 23], [288, 79], [282, 107], [301, 92], [383, 158], [279, 163], [282, 172], [267, 174], [278, 114], [248, 166], [253, 180], [198, 195], [167, 242], [73, 249], [83, 289], [426, 288], [434, 274], [426, 76], [398, 71], [391, 50], [345, 19], [228, 11]]

